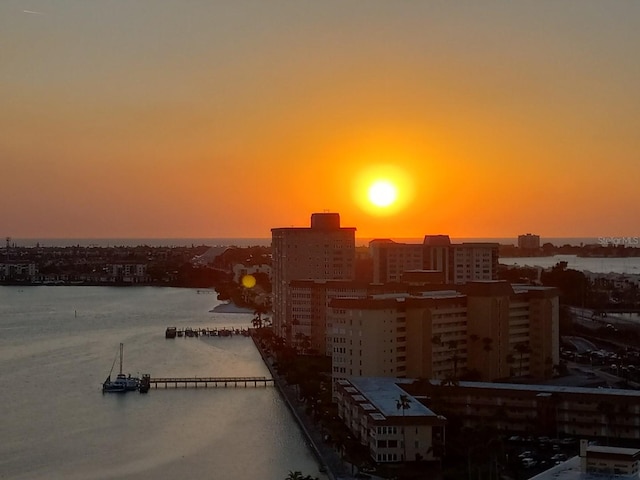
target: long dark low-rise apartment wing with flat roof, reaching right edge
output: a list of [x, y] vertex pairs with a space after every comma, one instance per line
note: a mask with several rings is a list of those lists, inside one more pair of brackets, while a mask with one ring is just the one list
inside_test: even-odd
[[609, 388], [458, 382], [416, 382], [413, 395], [465, 426], [490, 422], [510, 433], [640, 439], [640, 392]]

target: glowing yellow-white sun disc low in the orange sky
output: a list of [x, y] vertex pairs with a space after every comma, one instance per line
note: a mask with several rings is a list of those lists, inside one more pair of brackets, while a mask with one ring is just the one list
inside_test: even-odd
[[356, 177], [353, 194], [364, 211], [373, 215], [391, 215], [411, 203], [413, 182], [396, 165], [369, 166]]

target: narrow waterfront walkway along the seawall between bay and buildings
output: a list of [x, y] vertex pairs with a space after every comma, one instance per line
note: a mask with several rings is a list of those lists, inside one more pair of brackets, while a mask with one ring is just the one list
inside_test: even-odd
[[[287, 407], [293, 414], [294, 418], [298, 422], [302, 433], [304, 434], [309, 447], [313, 454], [316, 456], [319, 462], [319, 467], [326, 469], [326, 475], [330, 480], [353, 480], [356, 477], [349, 471], [349, 466], [342, 461], [342, 458], [334, 448], [328, 445], [322, 438], [322, 432], [318, 430], [313, 420], [305, 412], [304, 405], [298, 401], [295, 388], [292, 385], [288, 385], [287, 382], [276, 372], [273, 368], [271, 359], [260, 348], [260, 344], [256, 341], [255, 337], [251, 337], [253, 342], [260, 352], [265, 365], [271, 372], [274, 379], [274, 385], [282, 395]], [[304, 472], [305, 474], [307, 472]], [[311, 476], [315, 473], [311, 472]], [[372, 477], [373, 478], [373, 477]]]

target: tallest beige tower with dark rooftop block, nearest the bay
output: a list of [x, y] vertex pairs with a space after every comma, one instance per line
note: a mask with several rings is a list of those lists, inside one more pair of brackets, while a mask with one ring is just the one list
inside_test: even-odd
[[291, 341], [293, 280], [353, 280], [355, 228], [341, 227], [340, 214], [314, 213], [311, 227], [271, 229], [273, 326]]

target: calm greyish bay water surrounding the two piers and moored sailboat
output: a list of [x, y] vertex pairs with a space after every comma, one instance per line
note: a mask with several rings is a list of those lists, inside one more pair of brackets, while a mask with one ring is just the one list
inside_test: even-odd
[[324, 478], [273, 387], [101, 393], [120, 342], [127, 373], [268, 376], [248, 338], [165, 340], [169, 325], [249, 325], [209, 312], [218, 303], [189, 289], [0, 287], [0, 478]]

